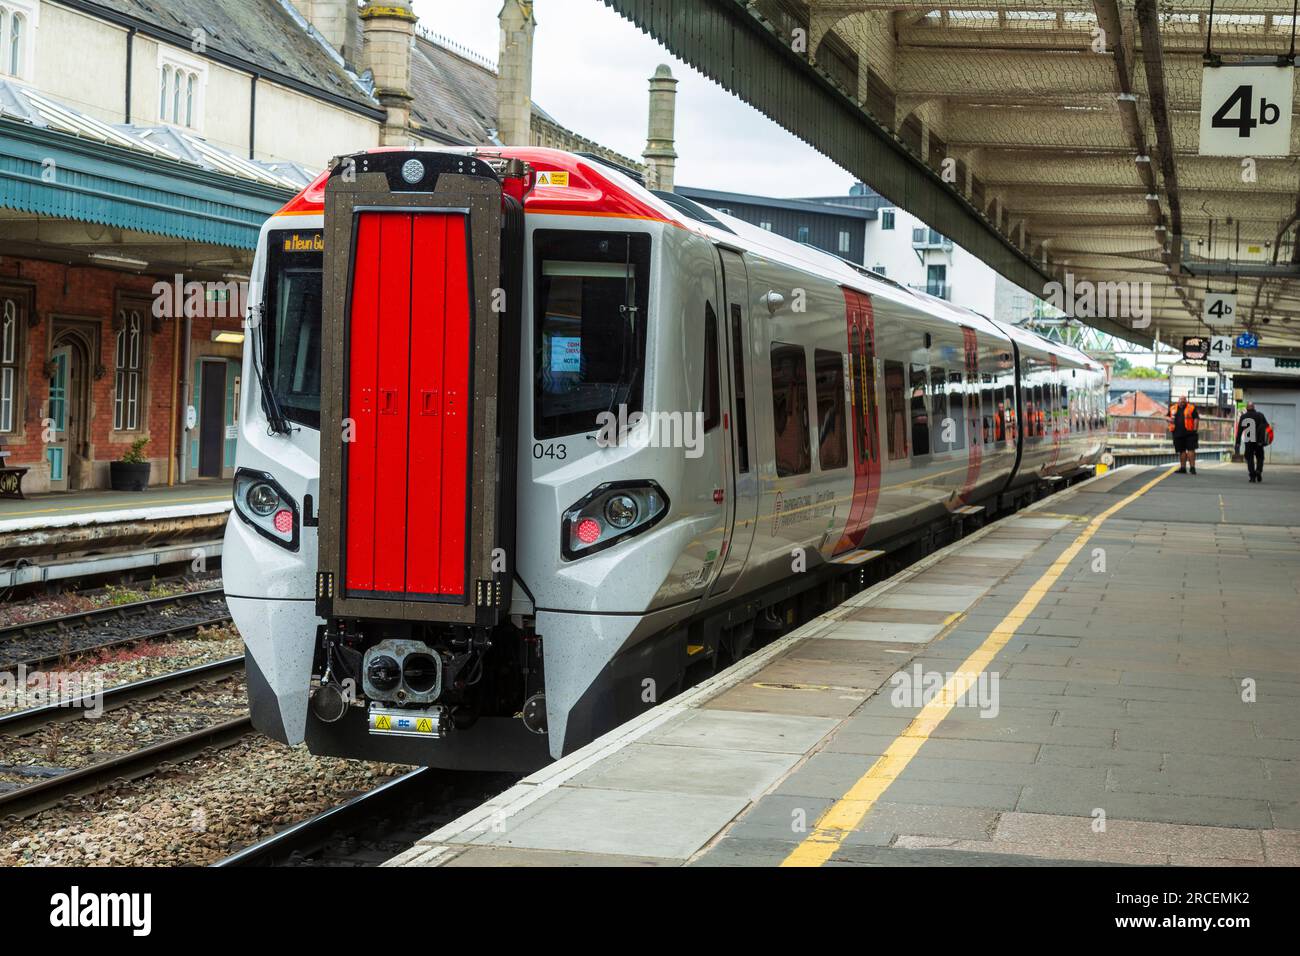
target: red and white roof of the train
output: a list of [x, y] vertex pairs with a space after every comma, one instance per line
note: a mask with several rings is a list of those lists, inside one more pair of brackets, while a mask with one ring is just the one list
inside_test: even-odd
[[[403, 147], [376, 147], [367, 153], [389, 152]], [[1052, 342], [1015, 325], [996, 323], [974, 310], [956, 306], [926, 293], [909, 289], [846, 259], [806, 243], [760, 229], [718, 209], [671, 193], [654, 193], [638, 178], [597, 156], [582, 156], [549, 147], [426, 147], [416, 152], [473, 153], [482, 160], [517, 159], [528, 163], [538, 173], [560, 173], [559, 177], [540, 177], [524, 196], [524, 212], [558, 216], [608, 216], [634, 219], [689, 229], [719, 246], [750, 252], [781, 261], [841, 286], [884, 297], [937, 312], [959, 324], [979, 326], [983, 332], [1001, 334], [1023, 346], [1066, 355], [1080, 364], [1100, 368], [1087, 355], [1070, 346]], [[321, 215], [325, 209], [325, 182], [330, 170], [322, 172], [302, 193], [291, 199], [276, 216]]]

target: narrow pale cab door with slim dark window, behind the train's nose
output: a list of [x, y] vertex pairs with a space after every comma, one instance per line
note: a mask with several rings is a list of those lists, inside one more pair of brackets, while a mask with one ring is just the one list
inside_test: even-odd
[[754, 462], [754, 436], [748, 397], [753, 394], [753, 367], [749, 362], [751, 329], [749, 323], [749, 274], [745, 260], [731, 250], [719, 250], [723, 264], [723, 315], [720, 339], [725, 375], [723, 429], [727, 447], [727, 533], [723, 538], [723, 567], [710, 594], [731, 589], [740, 576], [758, 525], [758, 470]]

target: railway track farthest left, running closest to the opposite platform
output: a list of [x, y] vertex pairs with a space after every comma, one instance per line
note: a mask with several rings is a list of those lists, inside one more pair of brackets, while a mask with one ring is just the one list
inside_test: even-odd
[[199, 628], [228, 623], [225, 592], [207, 588], [8, 624], [0, 627], [0, 671], [38, 670], [74, 654], [191, 637]]

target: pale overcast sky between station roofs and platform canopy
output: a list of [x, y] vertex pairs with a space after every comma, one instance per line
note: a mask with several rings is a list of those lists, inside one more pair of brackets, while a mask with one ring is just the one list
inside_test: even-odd
[[[415, 0], [420, 23], [497, 61], [500, 0]], [[686, 66], [601, 0], [537, 0], [533, 100], [575, 133], [641, 159], [647, 81], [677, 85], [681, 186], [772, 196], [842, 195], [853, 177]]]

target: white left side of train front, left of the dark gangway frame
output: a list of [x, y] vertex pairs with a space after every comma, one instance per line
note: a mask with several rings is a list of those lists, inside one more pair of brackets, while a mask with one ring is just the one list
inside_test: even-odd
[[254, 726], [286, 744], [307, 734], [316, 656], [320, 501], [318, 209], [268, 220], [250, 282], [234, 512], [222, 546], [226, 604], [246, 645]]

